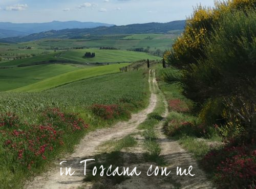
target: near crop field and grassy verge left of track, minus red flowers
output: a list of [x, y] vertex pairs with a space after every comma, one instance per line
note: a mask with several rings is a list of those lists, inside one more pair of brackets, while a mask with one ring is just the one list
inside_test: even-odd
[[[111, 66], [114, 65], [96, 68], [107, 69], [106, 67]], [[54, 124], [53, 127], [61, 134], [60, 138], [47, 141], [47, 144], [54, 148], [52, 151], [48, 148], [46, 149], [44, 155], [47, 159], [45, 160], [42, 159], [41, 156], [33, 155], [33, 153], [29, 151], [29, 148], [25, 149], [26, 155], [30, 159], [17, 159], [17, 151], [4, 145], [6, 140], [10, 138], [0, 133], [0, 159], [2, 162], [5, 162], [0, 164], [1, 186], [3, 188], [22, 188], [24, 181], [30, 176], [43, 172], [45, 170], [44, 168], [49, 166], [49, 164], [63, 152], [71, 152], [73, 146], [78, 143], [79, 139], [84, 136], [85, 133], [90, 130], [109, 126], [113, 124], [113, 122], [118, 121], [101, 120], [91, 112], [89, 106], [92, 104], [117, 104], [119, 106], [125, 106], [129, 113], [129, 111], [135, 111], [145, 107], [148, 95], [147, 77], [143, 77], [143, 71], [141, 70], [138, 72], [118, 73], [85, 79], [42, 92], [0, 93], [0, 112], [12, 112], [20, 117], [21, 121], [19, 121], [19, 125], [17, 126], [18, 131], [22, 129], [23, 132], [30, 133], [31, 128], [33, 128], [33, 131], [37, 132], [38, 130], [35, 126], [39, 127], [39, 125], [46, 124], [46, 122], [51, 123], [45, 116], [41, 116], [42, 112], [46, 110], [50, 113], [49, 109], [47, 109], [49, 107], [60, 108], [61, 112], [64, 112], [64, 115], [67, 117], [70, 117], [70, 112], [79, 113], [79, 115], [75, 114], [75, 116], [82, 117], [85, 123], [90, 124], [90, 127], [86, 130], [71, 132], [67, 130], [66, 123], [61, 121], [56, 122], [56, 120], [54, 120], [54, 123], [58, 125], [56, 127]], [[127, 116], [129, 116], [129, 114], [127, 114]], [[24, 121], [27, 121], [28, 124], [31, 125], [20, 124]], [[16, 126], [11, 128], [1, 127], [1, 130], [6, 133], [12, 133], [13, 130], [16, 129], [15, 127]], [[13, 135], [10, 134], [10, 136]], [[29, 139], [34, 140], [36, 137], [33, 134], [28, 134], [28, 136], [29, 138], [24, 138], [21, 135], [18, 137], [18, 141], [22, 141], [22, 143], [19, 143], [22, 149], [24, 146], [26, 147], [26, 143]], [[63, 141], [64, 145], [58, 145], [59, 141]], [[46, 141], [42, 142], [42, 144], [45, 143]], [[38, 148], [40, 148], [42, 144], [39, 143]], [[34, 163], [31, 168], [28, 169], [27, 165], [31, 160], [33, 160]]]

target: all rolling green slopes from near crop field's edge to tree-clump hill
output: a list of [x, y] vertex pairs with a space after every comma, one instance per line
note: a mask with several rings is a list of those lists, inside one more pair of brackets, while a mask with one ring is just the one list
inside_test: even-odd
[[[86, 52], [94, 58], [84, 58]], [[127, 64], [93, 67], [98, 64], [134, 62], [160, 57], [126, 50], [83, 49], [52, 52], [0, 63], [0, 91], [41, 91], [81, 79], [119, 72]], [[4, 69], [3, 69], [4, 68]], [[86, 68], [79, 70], [81, 68]]]

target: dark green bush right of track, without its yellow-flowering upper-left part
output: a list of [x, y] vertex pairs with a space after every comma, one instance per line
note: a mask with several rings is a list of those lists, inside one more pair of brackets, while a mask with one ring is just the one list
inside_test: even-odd
[[227, 122], [239, 120], [249, 138], [255, 133], [256, 121], [255, 20], [255, 11], [226, 14], [220, 22], [221, 29], [215, 31], [205, 48], [207, 58], [191, 65], [183, 78], [190, 99], [221, 99], [224, 106], [219, 108], [219, 115]]

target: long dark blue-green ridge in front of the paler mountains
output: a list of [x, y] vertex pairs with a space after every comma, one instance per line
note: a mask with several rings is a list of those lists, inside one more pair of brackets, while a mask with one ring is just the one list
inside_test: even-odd
[[23, 37], [9, 37], [0, 39], [0, 42], [25, 42], [45, 38], [60, 38], [60, 39], [83, 39], [88, 35], [120, 35], [120, 34], [142, 34], [142, 33], [168, 33], [173, 30], [183, 30], [185, 27], [185, 20], [172, 21], [167, 23], [142, 23], [126, 26], [100, 26], [97, 28], [87, 29], [64, 29], [64, 30], [50, 30], [47, 32], [40, 32]]

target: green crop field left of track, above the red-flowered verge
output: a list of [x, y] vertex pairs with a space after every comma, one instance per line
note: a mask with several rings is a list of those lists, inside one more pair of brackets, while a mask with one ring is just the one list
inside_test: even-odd
[[[105, 67], [107, 66], [95, 68], [105, 69]], [[146, 99], [143, 100], [142, 91], [148, 93], [146, 92], [148, 83], [146, 79], [142, 79], [142, 73], [139, 70], [102, 75], [39, 92], [2, 92], [0, 112], [11, 111], [22, 114], [24, 111], [29, 111], [30, 114], [34, 109], [47, 106], [72, 109], [86, 108], [94, 103], [114, 104], [120, 99], [126, 99], [126, 102], [144, 101]]]

